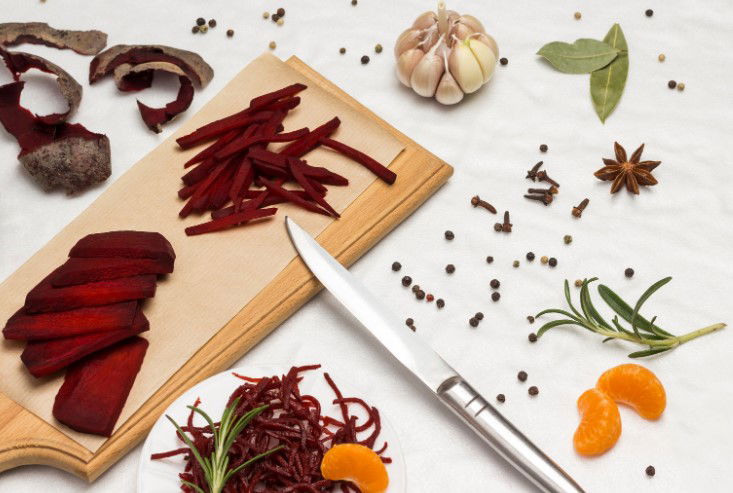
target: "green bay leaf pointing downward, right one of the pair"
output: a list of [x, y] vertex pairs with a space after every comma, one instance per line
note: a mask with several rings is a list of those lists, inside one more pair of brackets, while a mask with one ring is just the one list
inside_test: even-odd
[[629, 47], [626, 44], [621, 26], [614, 24], [603, 41], [619, 50], [614, 61], [600, 70], [590, 74], [590, 95], [593, 107], [601, 122], [606, 121], [608, 115], [616, 108], [626, 87], [626, 78], [629, 75]]

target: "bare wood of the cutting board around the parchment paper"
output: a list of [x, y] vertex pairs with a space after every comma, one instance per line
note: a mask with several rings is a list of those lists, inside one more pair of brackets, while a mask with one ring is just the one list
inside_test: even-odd
[[[341, 263], [351, 265], [430, 197], [453, 169], [378, 118], [296, 57], [286, 62], [334, 98], [389, 132], [404, 145], [390, 165], [399, 179], [375, 181], [318, 236]], [[321, 289], [299, 258], [235, 314], [211, 339], [144, 402], [106, 442], [92, 452], [6, 394], [0, 383], [0, 471], [45, 464], [93, 481], [148, 433], [184, 390], [230, 367]], [[19, 365], [19, 371], [22, 368]], [[3, 375], [11, 379], [13, 375]]]

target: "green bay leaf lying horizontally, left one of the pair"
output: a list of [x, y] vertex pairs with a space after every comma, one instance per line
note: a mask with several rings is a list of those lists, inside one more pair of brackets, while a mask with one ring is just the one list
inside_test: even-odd
[[566, 74], [589, 74], [611, 63], [618, 53], [617, 48], [597, 39], [578, 39], [573, 44], [553, 41], [537, 52]]

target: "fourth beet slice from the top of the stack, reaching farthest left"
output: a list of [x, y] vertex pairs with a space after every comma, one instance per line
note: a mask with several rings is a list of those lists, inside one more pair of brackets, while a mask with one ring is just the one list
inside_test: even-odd
[[132, 325], [137, 311], [136, 301], [35, 315], [21, 308], [8, 319], [3, 335], [6, 339], [43, 340], [119, 330]]

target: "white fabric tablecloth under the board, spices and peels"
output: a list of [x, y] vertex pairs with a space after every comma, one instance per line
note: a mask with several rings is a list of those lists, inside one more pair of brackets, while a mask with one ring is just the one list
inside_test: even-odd
[[[263, 10], [287, 10], [282, 27], [263, 21]], [[649, 304], [659, 323], [683, 332], [714, 322], [731, 321], [728, 286], [733, 275], [733, 8], [726, 0], [707, 2], [468, 2], [449, 8], [484, 21], [509, 65], [497, 67], [488, 87], [455, 108], [442, 108], [402, 88], [393, 76], [392, 43], [432, 2], [348, 0], [329, 2], [88, 2], [1, 0], [5, 20], [48, 21], [61, 28], [98, 28], [109, 43], [159, 42], [201, 53], [216, 71], [211, 85], [198, 93], [192, 114], [241, 67], [277, 41], [283, 59], [297, 54], [326, 77], [455, 166], [450, 183], [417, 213], [377, 245], [353, 272], [400, 315], [412, 316], [418, 331], [488, 398], [507, 395], [500, 409], [542, 449], [570, 471], [588, 491], [724, 491], [733, 454], [733, 393], [729, 355], [733, 329], [691, 342], [677, 351], [643, 363], [667, 388], [668, 407], [658, 422], [646, 422], [622, 409], [624, 432], [616, 447], [597, 459], [583, 459], [572, 448], [577, 425], [575, 400], [600, 373], [627, 362], [629, 346], [609, 343], [572, 329], [557, 329], [530, 345], [525, 316], [563, 304], [561, 283], [598, 276], [629, 298], [652, 282], [674, 281]], [[650, 19], [646, 8], [655, 10]], [[583, 18], [573, 19], [580, 10]], [[216, 18], [219, 27], [193, 36], [196, 17]], [[560, 74], [534, 54], [544, 43], [602, 38], [620, 22], [630, 46], [631, 68], [625, 95], [605, 125], [595, 116], [588, 76]], [[233, 39], [224, 32], [236, 30]], [[384, 53], [373, 46], [382, 43]], [[338, 48], [345, 46], [345, 56]], [[69, 51], [26, 45], [86, 79], [89, 58]], [[667, 61], [657, 62], [659, 53]], [[371, 56], [368, 66], [359, 64]], [[667, 80], [684, 81], [683, 93], [670, 91]], [[3, 79], [7, 80], [7, 78]], [[170, 99], [174, 84], [141, 95], [147, 103]], [[133, 96], [120, 94], [111, 80], [89, 87], [75, 121], [110, 136], [113, 176], [119, 177], [176, 128], [161, 135], [147, 131]], [[167, 90], [165, 90], [167, 89]], [[24, 102], [44, 111], [57, 107], [38, 102], [51, 94], [50, 84], [36, 84]], [[36, 97], [34, 97], [36, 96]], [[185, 118], [186, 115], [183, 115]], [[592, 173], [601, 157], [612, 157], [613, 141], [629, 152], [646, 143], [645, 157], [662, 161], [655, 172], [660, 184], [638, 197], [608, 194], [608, 184]], [[38, 248], [90, 204], [106, 187], [69, 198], [44, 194], [17, 164], [15, 141], [0, 132], [0, 278], [10, 275]], [[546, 155], [537, 147], [549, 145]], [[562, 192], [548, 208], [522, 198], [531, 185], [524, 172], [544, 159]], [[161, 163], [173, 166], [175, 163]], [[177, 172], [177, 171], [176, 171]], [[468, 205], [480, 193], [500, 210], [512, 212], [514, 232], [499, 235], [495, 218]], [[570, 208], [591, 199], [580, 221]], [[152, 211], [151, 211], [152, 213]], [[456, 239], [447, 243], [443, 231]], [[571, 246], [562, 242], [572, 234]], [[514, 259], [532, 250], [554, 255], [555, 269]], [[496, 259], [484, 262], [486, 255]], [[403, 271], [390, 271], [393, 260]], [[452, 262], [456, 273], [443, 267]], [[624, 268], [636, 276], [627, 280]], [[410, 274], [447, 306], [418, 304], [399, 278]], [[502, 281], [499, 303], [489, 299], [488, 281]], [[486, 318], [471, 329], [468, 318], [481, 310]], [[363, 337], [335, 300], [322, 294], [238, 363], [320, 362], [354, 384], [397, 425], [406, 453], [409, 491], [531, 491], [518, 474], [488, 451], [375, 344]], [[529, 373], [520, 384], [517, 371]], [[7, 376], [4, 376], [7, 378]], [[527, 395], [538, 385], [536, 398]], [[342, 385], [348, 385], [343, 383]], [[139, 448], [87, 485], [64, 472], [23, 467], [0, 474], [0, 491], [130, 491]], [[653, 464], [656, 477], [644, 468]]]

